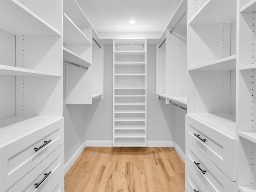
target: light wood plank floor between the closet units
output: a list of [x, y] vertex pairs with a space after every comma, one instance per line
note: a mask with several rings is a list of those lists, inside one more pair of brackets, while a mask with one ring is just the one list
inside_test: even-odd
[[65, 192], [184, 192], [174, 148], [86, 147], [65, 175]]

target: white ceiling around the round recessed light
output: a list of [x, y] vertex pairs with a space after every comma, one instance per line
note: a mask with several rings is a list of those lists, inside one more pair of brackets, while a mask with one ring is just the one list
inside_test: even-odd
[[[159, 38], [180, 0], [78, 0], [100, 38]], [[129, 24], [128, 20], [136, 20]]]

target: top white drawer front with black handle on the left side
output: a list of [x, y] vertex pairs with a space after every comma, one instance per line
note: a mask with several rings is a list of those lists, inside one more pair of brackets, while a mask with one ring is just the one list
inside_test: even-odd
[[[45, 141], [49, 141], [46, 142]], [[7, 191], [64, 142], [64, 118], [0, 149], [1, 188]], [[39, 148], [38, 151], [34, 148]]]

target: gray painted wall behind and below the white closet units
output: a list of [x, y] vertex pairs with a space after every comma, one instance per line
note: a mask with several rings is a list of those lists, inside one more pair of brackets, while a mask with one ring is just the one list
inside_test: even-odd
[[[184, 125], [174, 124], [174, 120], [180, 113], [175, 114], [174, 106], [156, 99], [156, 45], [148, 45], [147, 56], [147, 140], [174, 141], [174, 137], [182, 136], [185, 138], [185, 128], [181, 128]], [[104, 99], [94, 100], [92, 105], [66, 105], [64, 101], [65, 163], [85, 140], [112, 140], [113, 138], [112, 57], [112, 45], [104, 45]], [[63, 91], [65, 93], [65, 78]], [[179, 127], [178, 132], [175, 132], [175, 125]], [[177, 139], [176, 142], [185, 152], [185, 145], [183, 145], [185, 141]]]

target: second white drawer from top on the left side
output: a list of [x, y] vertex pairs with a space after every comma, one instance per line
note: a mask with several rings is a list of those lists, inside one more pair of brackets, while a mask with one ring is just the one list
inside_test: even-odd
[[[44, 192], [64, 168], [64, 144], [32, 169], [8, 192]], [[45, 174], [48, 174], [45, 175]], [[41, 184], [40, 184], [41, 182]], [[36, 188], [35, 184], [40, 184]]]

